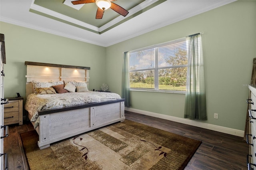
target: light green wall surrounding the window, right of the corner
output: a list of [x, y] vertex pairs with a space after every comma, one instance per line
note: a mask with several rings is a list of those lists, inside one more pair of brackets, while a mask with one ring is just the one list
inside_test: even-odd
[[[208, 120], [244, 130], [256, 57], [256, 1], [236, 1], [106, 48], [107, 84], [121, 93], [123, 52], [202, 34]], [[244, 84], [244, 85], [243, 85]], [[132, 91], [133, 109], [183, 118], [184, 94]], [[214, 119], [218, 113], [219, 119]]]

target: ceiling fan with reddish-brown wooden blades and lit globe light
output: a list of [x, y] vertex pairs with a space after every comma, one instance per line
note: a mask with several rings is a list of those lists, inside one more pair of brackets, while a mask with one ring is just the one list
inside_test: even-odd
[[126, 16], [129, 13], [127, 10], [113, 3], [112, 1], [115, 1], [115, 0], [75, 0], [75, 1], [72, 1], [72, 4], [77, 5], [77, 4], [96, 3], [96, 5], [98, 6], [98, 9], [96, 12], [96, 19], [102, 19], [104, 11], [107, 10], [108, 8], [111, 8], [112, 10], [116, 11], [118, 14], [122, 16]]

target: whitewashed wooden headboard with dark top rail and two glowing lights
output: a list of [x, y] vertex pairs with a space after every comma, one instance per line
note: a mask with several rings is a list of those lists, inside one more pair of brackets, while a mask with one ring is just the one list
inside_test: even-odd
[[27, 67], [26, 73], [26, 97], [34, 93], [32, 81], [60, 81], [75, 80], [86, 81], [89, 85], [90, 67], [81, 67], [74, 65], [60, 65], [49, 63], [37, 63], [25, 61]]

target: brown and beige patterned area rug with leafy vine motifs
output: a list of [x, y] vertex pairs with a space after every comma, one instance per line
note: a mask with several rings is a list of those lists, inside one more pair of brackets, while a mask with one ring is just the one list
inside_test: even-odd
[[31, 170], [182, 170], [201, 144], [129, 120], [42, 150], [35, 130], [20, 136]]

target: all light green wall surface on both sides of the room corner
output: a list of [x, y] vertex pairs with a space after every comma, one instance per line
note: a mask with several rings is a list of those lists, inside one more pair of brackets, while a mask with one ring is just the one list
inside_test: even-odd
[[[202, 122], [244, 130], [246, 84], [256, 57], [255, 16], [256, 1], [236, 1], [109, 47], [0, 22], [6, 40], [5, 97], [25, 96], [24, 61], [91, 67], [90, 90], [107, 83], [121, 94], [124, 51], [204, 32], [208, 121]], [[133, 109], [183, 118], [184, 94], [132, 91], [131, 99]]]

